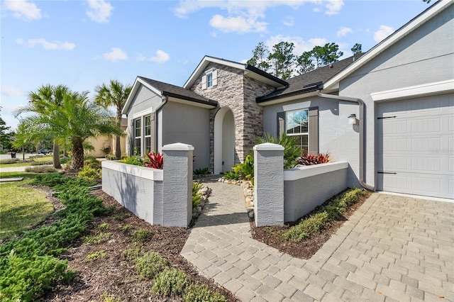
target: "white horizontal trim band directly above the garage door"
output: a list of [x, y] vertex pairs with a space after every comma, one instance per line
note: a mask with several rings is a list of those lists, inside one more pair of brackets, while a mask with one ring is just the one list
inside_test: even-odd
[[433, 82], [428, 84], [409, 86], [399, 89], [374, 92], [370, 94], [372, 101], [389, 101], [395, 99], [407, 99], [414, 96], [426, 96], [430, 94], [442, 94], [454, 91], [454, 79]]

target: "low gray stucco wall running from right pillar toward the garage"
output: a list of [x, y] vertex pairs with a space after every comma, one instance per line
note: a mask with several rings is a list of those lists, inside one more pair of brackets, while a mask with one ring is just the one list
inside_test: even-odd
[[284, 170], [284, 222], [295, 221], [348, 187], [348, 162]]

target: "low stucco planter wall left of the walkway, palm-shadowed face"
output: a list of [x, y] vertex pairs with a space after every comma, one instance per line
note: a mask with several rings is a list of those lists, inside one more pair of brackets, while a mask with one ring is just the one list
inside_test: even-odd
[[162, 177], [160, 169], [102, 162], [103, 191], [151, 224], [162, 225]]

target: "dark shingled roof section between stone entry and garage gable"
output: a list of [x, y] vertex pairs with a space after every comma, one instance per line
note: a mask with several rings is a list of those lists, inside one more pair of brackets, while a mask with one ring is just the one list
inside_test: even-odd
[[257, 103], [262, 103], [265, 101], [281, 99], [287, 96], [293, 96], [322, 89], [323, 84], [328, 81], [328, 79], [334, 77], [336, 74], [355, 62], [355, 60], [358, 60], [358, 58], [362, 55], [364, 54], [359, 53], [357, 55], [353, 55], [352, 57], [348, 57], [347, 59], [319, 67], [312, 70], [311, 72], [306, 72], [305, 74], [301, 74], [297, 77], [287, 79], [289, 86], [283, 89], [272, 91], [272, 93], [265, 96], [259, 96], [255, 100], [257, 101]]

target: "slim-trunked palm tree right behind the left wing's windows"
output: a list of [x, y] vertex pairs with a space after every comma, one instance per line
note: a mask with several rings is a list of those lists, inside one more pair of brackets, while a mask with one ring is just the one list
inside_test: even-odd
[[[98, 85], [94, 88], [94, 92], [96, 93], [94, 101], [96, 102], [96, 104], [99, 104], [104, 108], [108, 108], [109, 106], [116, 107], [115, 121], [118, 125], [118, 128], [121, 128], [121, 110], [126, 104], [126, 99], [128, 99], [128, 95], [131, 92], [131, 89], [131, 85], [125, 86], [115, 79], [111, 79], [109, 86], [103, 83], [101, 86]], [[115, 156], [117, 160], [119, 160], [121, 157], [120, 135], [116, 136]]]

